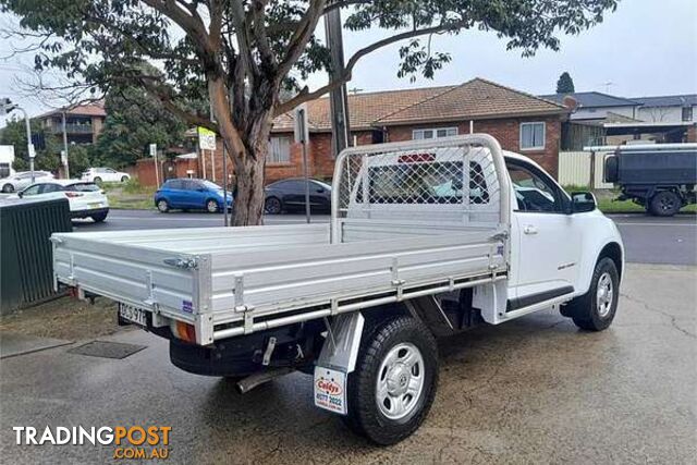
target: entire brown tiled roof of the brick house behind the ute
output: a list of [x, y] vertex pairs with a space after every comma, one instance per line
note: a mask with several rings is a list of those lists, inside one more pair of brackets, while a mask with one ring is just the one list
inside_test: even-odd
[[[458, 86], [388, 90], [348, 96], [352, 130], [382, 125], [566, 112], [566, 108], [519, 90], [475, 78]], [[330, 131], [328, 98], [307, 103], [309, 129]], [[274, 132], [293, 131], [292, 113], [273, 121]]]

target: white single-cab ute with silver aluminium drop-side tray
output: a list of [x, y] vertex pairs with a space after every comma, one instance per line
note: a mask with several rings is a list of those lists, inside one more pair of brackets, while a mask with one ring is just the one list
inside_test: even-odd
[[243, 392], [311, 374], [315, 404], [379, 444], [428, 414], [435, 336], [549, 308], [606, 329], [624, 257], [591, 194], [484, 134], [344, 150], [330, 224], [51, 240], [57, 286], [118, 301], [178, 367]]

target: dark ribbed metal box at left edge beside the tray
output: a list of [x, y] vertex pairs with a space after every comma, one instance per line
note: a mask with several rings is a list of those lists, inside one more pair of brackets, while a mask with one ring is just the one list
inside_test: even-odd
[[54, 295], [54, 232], [71, 232], [68, 199], [0, 199], [0, 315]]

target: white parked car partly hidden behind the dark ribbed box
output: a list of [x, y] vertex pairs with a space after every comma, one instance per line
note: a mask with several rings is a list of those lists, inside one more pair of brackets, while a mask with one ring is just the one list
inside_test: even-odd
[[65, 197], [70, 204], [71, 218], [91, 218], [99, 223], [109, 215], [109, 199], [93, 182], [81, 180], [46, 180], [20, 191], [21, 198]]

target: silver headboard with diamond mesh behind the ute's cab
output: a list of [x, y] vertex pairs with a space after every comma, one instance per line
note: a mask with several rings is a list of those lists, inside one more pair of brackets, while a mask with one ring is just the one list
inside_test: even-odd
[[496, 221], [500, 187], [488, 148], [460, 145], [351, 154], [339, 180], [339, 218], [375, 211], [490, 213]]

